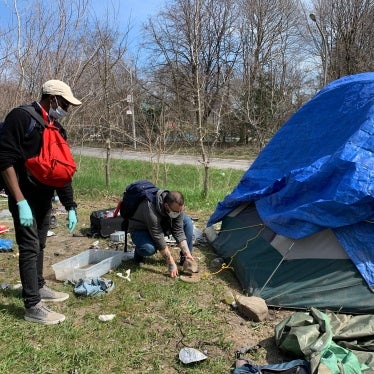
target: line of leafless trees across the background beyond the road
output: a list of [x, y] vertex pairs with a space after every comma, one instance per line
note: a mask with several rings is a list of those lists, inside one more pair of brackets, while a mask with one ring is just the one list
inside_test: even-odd
[[84, 103], [64, 123], [71, 142], [105, 146], [108, 157], [111, 147], [161, 154], [194, 143], [205, 193], [212, 149], [260, 150], [324, 84], [374, 70], [374, 0], [169, 0], [137, 51], [130, 19], [112, 5], [100, 15], [89, 0], [9, 6], [2, 118], [62, 79]]

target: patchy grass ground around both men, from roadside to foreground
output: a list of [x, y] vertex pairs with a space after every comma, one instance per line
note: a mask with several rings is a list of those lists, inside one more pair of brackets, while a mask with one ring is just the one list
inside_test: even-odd
[[[215, 254], [209, 245], [195, 249], [199, 258], [199, 283], [185, 283], [167, 276], [164, 261], [156, 254], [144, 267], [132, 261], [123, 262], [115, 272], [131, 270], [131, 282], [104, 275], [115, 283], [112, 292], [99, 297], [77, 297], [73, 286], [56, 282], [50, 264], [86, 250], [93, 239], [84, 236], [89, 228], [91, 211], [114, 206], [124, 187], [136, 180], [154, 180], [155, 165], [144, 162], [111, 162], [111, 185], [105, 186], [103, 160], [82, 157], [74, 180], [79, 203], [80, 237], [67, 235], [64, 217], [58, 217], [57, 236], [47, 242], [45, 273], [50, 285], [71, 297], [52, 305], [64, 313], [66, 321], [55, 326], [41, 326], [23, 320], [20, 291], [7, 288], [0, 293], [0, 326], [2, 350], [1, 373], [228, 373], [234, 363], [235, 341], [232, 319], [237, 318], [222, 303], [225, 289], [237, 287], [230, 271], [209, 276], [209, 264]], [[183, 191], [186, 210], [197, 216], [200, 228], [217, 201], [231, 191], [242, 172], [212, 170], [208, 200], [201, 196], [201, 171], [190, 166], [167, 165], [158, 174], [158, 185]], [[162, 181], [162, 182], [161, 182]], [[4, 202], [2, 202], [4, 204]], [[4, 206], [2, 207], [4, 209]], [[12, 232], [7, 234], [12, 238]], [[100, 248], [109, 248], [100, 239]], [[179, 250], [173, 249], [177, 255]], [[56, 257], [57, 256], [57, 257]], [[17, 249], [0, 254], [2, 282], [19, 281]], [[116, 314], [107, 323], [98, 315]], [[236, 326], [236, 325], [235, 325]], [[258, 326], [258, 324], [256, 325]], [[241, 320], [239, 330], [251, 331], [256, 326]], [[243, 346], [247, 345], [244, 343]], [[199, 349], [208, 359], [184, 365], [178, 358], [183, 347]], [[263, 357], [263, 355], [262, 355]]]

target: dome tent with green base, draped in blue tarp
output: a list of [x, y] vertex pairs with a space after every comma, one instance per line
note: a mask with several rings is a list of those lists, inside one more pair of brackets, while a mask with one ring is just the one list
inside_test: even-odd
[[275, 134], [207, 226], [268, 305], [374, 311], [374, 73], [324, 87]]

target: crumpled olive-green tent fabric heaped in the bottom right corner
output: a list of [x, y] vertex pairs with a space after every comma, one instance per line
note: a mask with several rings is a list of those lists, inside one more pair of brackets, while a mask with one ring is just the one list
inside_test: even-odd
[[277, 346], [310, 362], [311, 372], [374, 372], [374, 316], [296, 312], [275, 327]]

